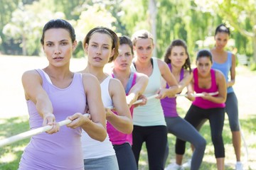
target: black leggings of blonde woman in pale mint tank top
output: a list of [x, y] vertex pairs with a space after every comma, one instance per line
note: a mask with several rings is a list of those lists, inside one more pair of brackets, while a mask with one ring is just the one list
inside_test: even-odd
[[164, 169], [164, 153], [167, 142], [167, 130], [165, 125], [145, 127], [134, 125], [132, 138], [132, 151], [134, 152], [137, 167], [139, 167], [139, 153], [142, 149], [142, 144], [146, 142], [149, 170]]

